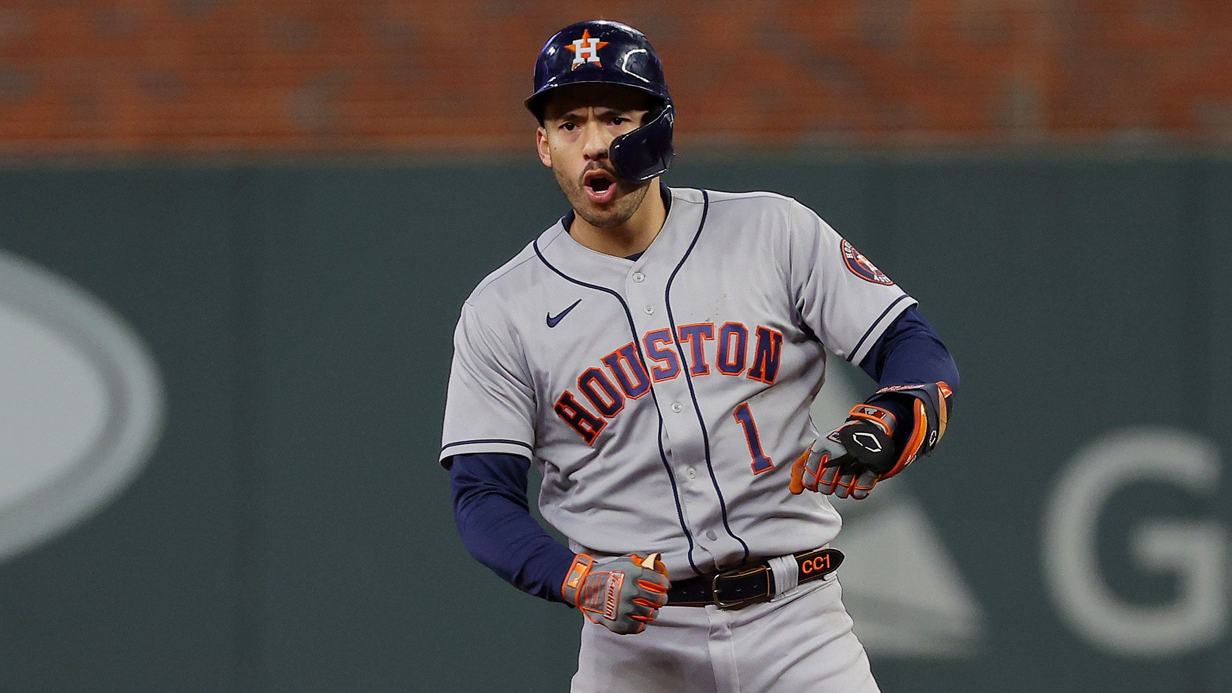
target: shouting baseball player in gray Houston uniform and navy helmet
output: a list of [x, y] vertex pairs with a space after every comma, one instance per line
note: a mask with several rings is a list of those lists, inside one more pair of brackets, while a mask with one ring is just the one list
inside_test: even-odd
[[[675, 110], [641, 32], [561, 30], [526, 106], [572, 210], [462, 306], [440, 459], [468, 550], [585, 617], [575, 692], [877, 691], [828, 496], [941, 441], [952, 358], [803, 204], [660, 181]], [[880, 388], [823, 433], [827, 352]]]

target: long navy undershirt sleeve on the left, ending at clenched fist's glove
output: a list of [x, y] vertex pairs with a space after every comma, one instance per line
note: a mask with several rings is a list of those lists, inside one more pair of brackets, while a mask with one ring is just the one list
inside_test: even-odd
[[563, 602], [574, 553], [531, 517], [530, 460], [509, 453], [450, 458], [453, 519], [471, 555], [522, 592]]

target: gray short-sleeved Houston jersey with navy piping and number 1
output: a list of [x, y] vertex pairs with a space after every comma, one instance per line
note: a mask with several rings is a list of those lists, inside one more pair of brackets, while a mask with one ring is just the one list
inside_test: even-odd
[[533, 459], [574, 551], [659, 551], [676, 580], [838, 534], [824, 495], [787, 491], [827, 350], [859, 363], [915, 302], [791, 198], [670, 194], [637, 260], [557, 223], [479, 283], [441, 459]]

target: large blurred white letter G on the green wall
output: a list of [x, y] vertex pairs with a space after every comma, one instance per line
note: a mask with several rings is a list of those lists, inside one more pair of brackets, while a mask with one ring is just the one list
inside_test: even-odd
[[1133, 556], [1149, 571], [1178, 576], [1174, 602], [1142, 606], [1112, 592], [1099, 571], [1099, 513], [1133, 481], [1211, 494], [1218, 452], [1206, 438], [1168, 428], [1112, 432], [1063, 470], [1044, 516], [1044, 577], [1062, 619], [1100, 649], [1173, 656], [1210, 644], [1227, 617], [1227, 533], [1214, 522], [1148, 521], [1131, 533]]

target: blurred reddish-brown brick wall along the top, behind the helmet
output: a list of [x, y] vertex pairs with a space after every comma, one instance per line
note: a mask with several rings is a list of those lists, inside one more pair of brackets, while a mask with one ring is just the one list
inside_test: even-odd
[[[695, 146], [1232, 143], [1227, 0], [620, 2]], [[578, 2], [9, 0], [0, 154], [529, 149]]]

